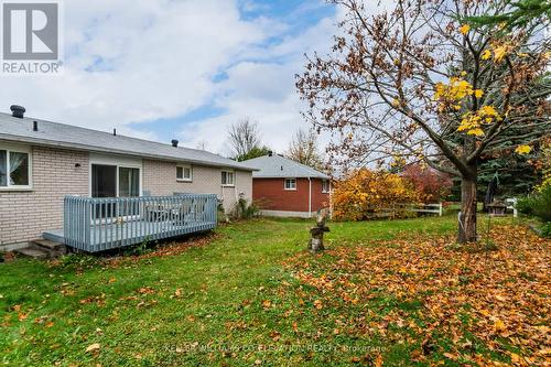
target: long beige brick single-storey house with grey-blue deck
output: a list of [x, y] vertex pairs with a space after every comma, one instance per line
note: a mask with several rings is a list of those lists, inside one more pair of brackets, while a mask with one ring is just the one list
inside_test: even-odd
[[12, 111], [0, 114], [0, 248], [50, 230], [58, 240], [74, 234], [75, 247], [94, 244], [91, 251], [132, 245], [193, 231], [192, 222], [215, 226], [216, 203], [230, 211], [239, 197], [252, 199], [253, 169], [236, 161], [176, 140], [163, 144], [28, 118], [19, 106]]

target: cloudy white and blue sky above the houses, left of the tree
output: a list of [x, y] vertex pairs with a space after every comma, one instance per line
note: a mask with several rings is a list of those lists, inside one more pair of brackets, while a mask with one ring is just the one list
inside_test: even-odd
[[228, 126], [250, 117], [282, 152], [305, 126], [294, 75], [328, 51], [336, 13], [323, 0], [64, 1], [64, 74], [2, 76], [0, 99], [223, 154]]

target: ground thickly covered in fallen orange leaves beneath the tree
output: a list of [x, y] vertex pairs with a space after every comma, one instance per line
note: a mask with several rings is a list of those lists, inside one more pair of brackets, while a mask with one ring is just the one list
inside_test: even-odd
[[444, 236], [341, 247], [290, 261], [305, 296], [329, 310], [335, 333], [383, 335], [410, 363], [543, 366], [551, 358], [549, 240], [498, 226], [490, 248]]

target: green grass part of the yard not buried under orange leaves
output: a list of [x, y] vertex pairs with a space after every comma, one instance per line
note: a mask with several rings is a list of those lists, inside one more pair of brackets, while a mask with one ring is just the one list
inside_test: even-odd
[[[453, 233], [454, 222], [331, 224], [326, 246], [430, 238]], [[24, 259], [0, 265], [0, 364], [344, 366], [377, 364], [366, 356], [379, 354], [390, 365], [410, 364], [407, 343], [335, 332], [335, 317], [346, 317], [348, 306], [318, 310], [315, 289], [293, 277], [284, 262], [305, 256], [310, 226], [256, 219], [223, 226], [207, 245], [173, 256], [84, 267]], [[96, 343], [99, 348], [86, 352]]]

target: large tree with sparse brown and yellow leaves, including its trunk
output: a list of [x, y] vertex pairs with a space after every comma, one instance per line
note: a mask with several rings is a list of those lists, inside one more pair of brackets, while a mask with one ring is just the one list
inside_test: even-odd
[[377, 15], [359, 0], [335, 3], [346, 15], [333, 53], [310, 57], [298, 77], [305, 118], [337, 132], [333, 160], [401, 156], [461, 177], [457, 240], [476, 241], [479, 160], [526, 153], [551, 130], [549, 20], [511, 30], [461, 21], [507, 12], [499, 0], [397, 0]]

